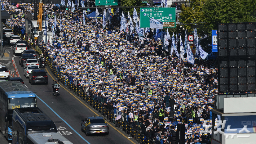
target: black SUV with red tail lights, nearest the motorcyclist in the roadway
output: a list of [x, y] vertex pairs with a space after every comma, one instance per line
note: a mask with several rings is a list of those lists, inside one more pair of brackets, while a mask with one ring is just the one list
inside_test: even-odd
[[48, 85], [48, 76], [43, 69], [33, 69], [31, 73], [28, 76], [28, 82], [31, 83], [31, 85], [34, 85], [35, 83], [44, 83]]

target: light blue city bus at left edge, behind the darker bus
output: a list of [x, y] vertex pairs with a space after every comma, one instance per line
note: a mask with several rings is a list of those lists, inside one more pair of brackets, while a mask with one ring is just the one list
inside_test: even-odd
[[12, 140], [14, 108], [37, 107], [36, 95], [19, 81], [0, 81], [0, 130]]

